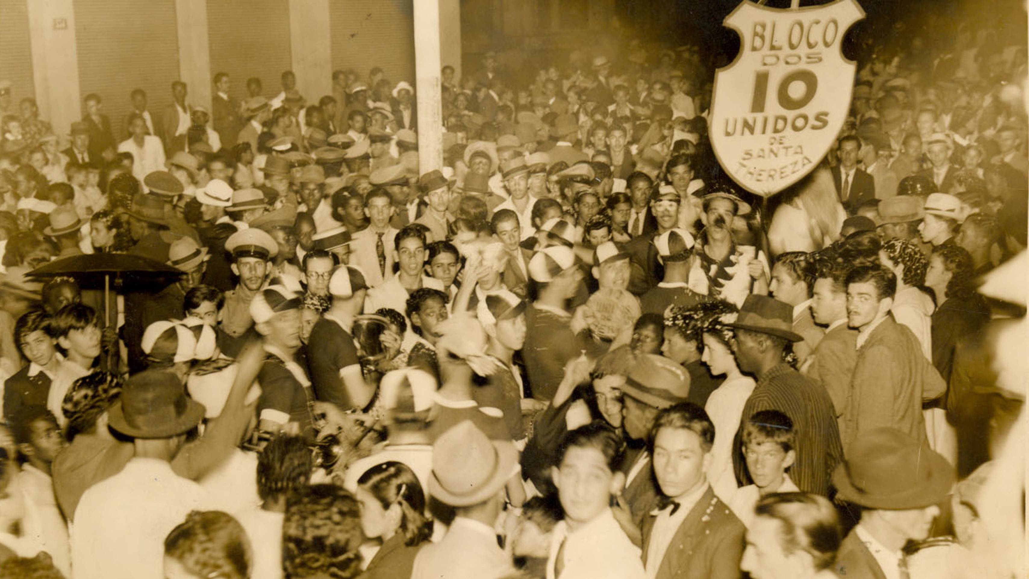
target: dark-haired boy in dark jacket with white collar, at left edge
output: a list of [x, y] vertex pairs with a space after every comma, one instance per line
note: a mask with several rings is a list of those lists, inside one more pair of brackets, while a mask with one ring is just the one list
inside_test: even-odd
[[57, 340], [50, 335], [50, 322], [45, 311], [33, 309], [14, 323], [14, 343], [29, 365], [4, 383], [3, 414], [8, 424], [26, 407], [46, 406], [50, 383], [64, 361], [57, 350]]

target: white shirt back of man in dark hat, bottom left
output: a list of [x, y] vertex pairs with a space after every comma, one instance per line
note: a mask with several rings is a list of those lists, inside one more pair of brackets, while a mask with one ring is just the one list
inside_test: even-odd
[[209, 506], [217, 508], [165, 461], [132, 458], [90, 487], [75, 509], [73, 579], [163, 579], [165, 538], [190, 511]]

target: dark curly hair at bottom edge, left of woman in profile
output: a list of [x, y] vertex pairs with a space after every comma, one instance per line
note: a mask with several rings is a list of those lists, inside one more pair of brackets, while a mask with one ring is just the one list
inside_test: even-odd
[[334, 484], [313, 484], [286, 500], [282, 567], [287, 579], [350, 579], [361, 573], [357, 500]]

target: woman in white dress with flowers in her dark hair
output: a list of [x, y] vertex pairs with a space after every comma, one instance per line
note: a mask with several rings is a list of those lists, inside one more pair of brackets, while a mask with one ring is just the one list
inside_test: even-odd
[[714, 424], [708, 482], [716, 495], [731, 498], [738, 487], [733, 472], [733, 437], [740, 428], [743, 406], [754, 391], [754, 379], [740, 370], [733, 355], [733, 330], [725, 323], [736, 321], [736, 306], [718, 300], [700, 304], [694, 309], [704, 347], [701, 362], [708, 367], [711, 375], [725, 377], [704, 405]]

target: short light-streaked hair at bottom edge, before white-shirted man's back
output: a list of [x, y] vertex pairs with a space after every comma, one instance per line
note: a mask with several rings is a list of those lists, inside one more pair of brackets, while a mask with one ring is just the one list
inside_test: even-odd
[[165, 539], [165, 556], [196, 577], [247, 579], [253, 554], [243, 525], [221, 511], [192, 511]]

